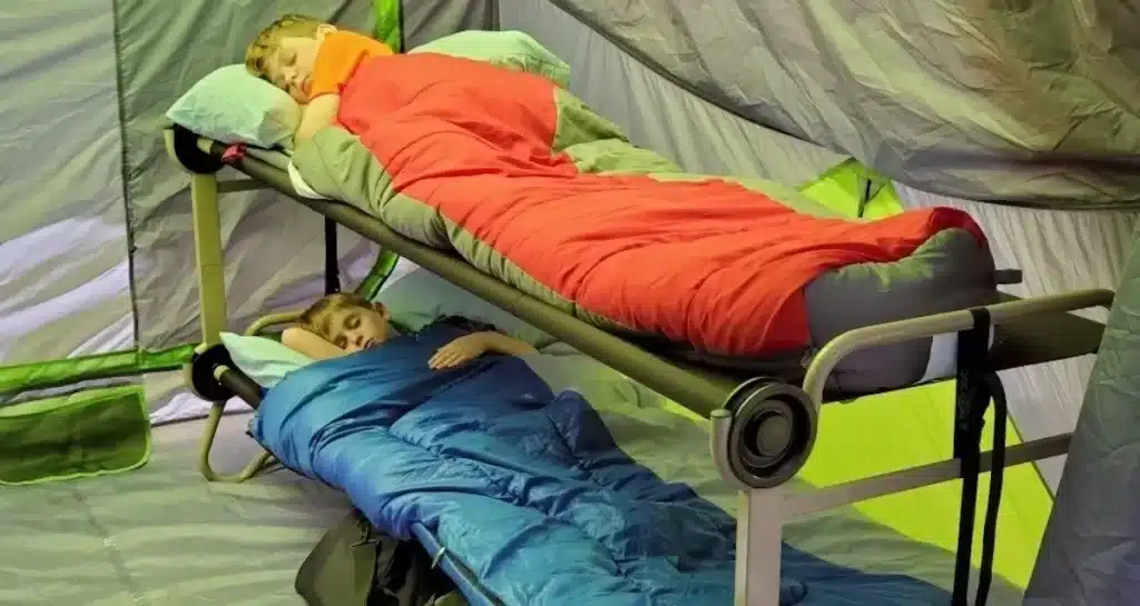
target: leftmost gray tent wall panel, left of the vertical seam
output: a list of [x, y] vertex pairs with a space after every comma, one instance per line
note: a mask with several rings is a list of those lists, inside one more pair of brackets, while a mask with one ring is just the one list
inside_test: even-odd
[[135, 342], [109, 8], [27, 2], [0, 17], [0, 363]]

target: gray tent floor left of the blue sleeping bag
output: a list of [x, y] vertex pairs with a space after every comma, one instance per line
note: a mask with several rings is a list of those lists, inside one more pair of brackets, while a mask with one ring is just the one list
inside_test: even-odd
[[[260, 450], [243, 417], [222, 423], [218, 465]], [[0, 489], [0, 604], [299, 606], [298, 566], [348, 499], [284, 470], [204, 483], [202, 427], [155, 427], [127, 474]]]

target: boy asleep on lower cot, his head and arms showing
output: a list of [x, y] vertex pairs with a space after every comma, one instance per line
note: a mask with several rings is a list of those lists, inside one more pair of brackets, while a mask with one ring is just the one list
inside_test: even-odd
[[285, 329], [282, 343], [316, 360], [327, 360], [381, 347], [389, 341], [434, 338], [440, 347], [427, 366], [435, 370], [456, 368], [487, 353], [524, 355], [536, 351], [490, 325], [464, 318], [440, 318], [408, 335], [397, 333], [390, 318], [382, 303], [351, 293], [326, 295], [301, 313], [296, 326]]

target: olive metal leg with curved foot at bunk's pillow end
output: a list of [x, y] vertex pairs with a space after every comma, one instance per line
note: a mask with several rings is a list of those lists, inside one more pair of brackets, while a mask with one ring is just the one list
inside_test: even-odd
[[[218, 179], [213, 173], [190, 175], [190, 205], [194, 219], [194, 257], [197, 263], [198, 310], [202, 327], [199, 349], [221, 343], [226, 329], [226, 270], [221, 243], [221, 215], [218, 211]], [[198, 469], [210, 482], [244, 482], [269, 461], [262, 453], [236, 475], [221, 475], [210, 464], [210, 450], [221, 423], [226, 402], [213, 402], [206, 419], [198, 453]]]

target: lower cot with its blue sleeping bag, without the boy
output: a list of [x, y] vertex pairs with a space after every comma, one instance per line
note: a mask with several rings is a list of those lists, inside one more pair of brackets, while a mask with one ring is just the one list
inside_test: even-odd
[[[251, 431], [270, 451], [345, 490], [382, 531], [439, 554], [470, 604], [732, 600], [738, 491], [707, 456], [707, 420], [561, 343], [518, 366], [453, 372], [432, 395], [394, 379], [415, 374], [401, 366], [407, 354], [370, 353], [296, 370], [260, 404], [253, 379], [223, 376], [260, 407]], [[382, 395], [385, 380], [400, 387]], [[529, 393], [521, 408], [510, 406], [519, 388]], [[568, 451], [572, 461], [552, 454]], [[494, 474], [514, 499], [481, 482]], [[783, 605], [950, 603], [953, 554], [853, 507], [788, 525], [782, 559]], [[1021, 596], [995, 579], [990, 598]]]

